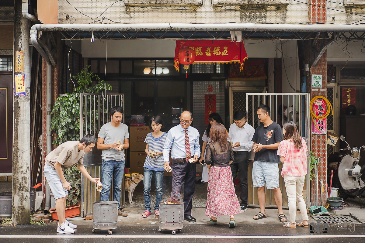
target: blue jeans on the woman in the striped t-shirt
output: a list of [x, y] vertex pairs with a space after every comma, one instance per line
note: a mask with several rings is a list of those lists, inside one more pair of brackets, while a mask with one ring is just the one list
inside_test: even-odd
[[152, 171], [143, 167], [143, 196], [145, 197], [145, 208], [151, 212], [151, 180], [152, 175], [155, 175], [156, 183], [156, 203], [155, 210], [159, 209], [159, 202], [162, 200], [162, 180], [164, 179], [164, 171]]

